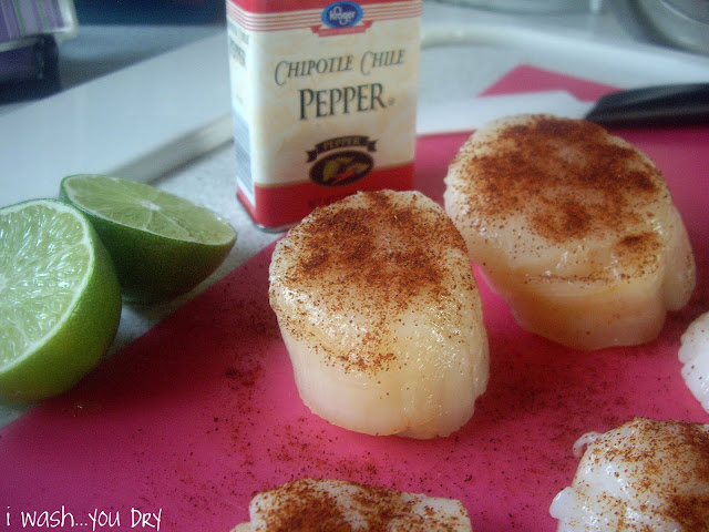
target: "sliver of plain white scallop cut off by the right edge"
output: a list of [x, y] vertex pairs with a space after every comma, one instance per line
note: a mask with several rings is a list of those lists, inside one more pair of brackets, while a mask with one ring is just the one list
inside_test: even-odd
[[681, 337], [679, 361], [687, 387], [709, 412], [709, 313], [695, 319]]

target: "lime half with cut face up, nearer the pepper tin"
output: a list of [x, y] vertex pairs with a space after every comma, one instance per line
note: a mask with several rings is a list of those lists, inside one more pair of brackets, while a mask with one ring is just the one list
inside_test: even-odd
[[91, 219], [126, 300], [157, 303], [189, 291], [236, 242], [234, 228], [214, 211], [144, 183], [71, 175], [60, 197]]

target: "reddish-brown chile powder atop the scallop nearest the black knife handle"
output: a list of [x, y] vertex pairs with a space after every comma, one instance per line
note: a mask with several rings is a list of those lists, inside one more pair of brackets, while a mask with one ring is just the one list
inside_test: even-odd
[[623, 232], [645, 216], [638, 205], [669, 197], [649, 158], [580, 120], [537, 115], [473, 136], [453, 165], [462, 162], [473, 178], [456, 186], [479, 218], [525, 212], [530, 229], [554, 243]]

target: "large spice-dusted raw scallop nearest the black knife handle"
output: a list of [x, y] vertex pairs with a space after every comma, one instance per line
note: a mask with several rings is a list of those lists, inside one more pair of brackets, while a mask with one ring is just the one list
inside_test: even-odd
[[644, 344], [691, 295], [695, 260], [661, 173], [596, 124], [494, 121], [445, 184], [472, 260], [530, 331], [579, 349]]

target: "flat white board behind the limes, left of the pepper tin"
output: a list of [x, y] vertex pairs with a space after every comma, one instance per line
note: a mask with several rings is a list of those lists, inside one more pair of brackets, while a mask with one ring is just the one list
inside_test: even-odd
[[0, 116], [0, 203], [53, 197], [65, 175], [150, 181], [230, 135], [226, 35]]

